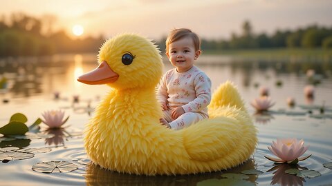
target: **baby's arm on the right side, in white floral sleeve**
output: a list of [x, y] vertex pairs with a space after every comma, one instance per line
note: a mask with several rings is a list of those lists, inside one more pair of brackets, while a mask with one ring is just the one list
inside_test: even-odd
[[194, 89], [196, 92], [196, 99], [182, 106], [185, 112], [199, 112], [210, 104], [211, 81], [203, 72], [195, 77]]

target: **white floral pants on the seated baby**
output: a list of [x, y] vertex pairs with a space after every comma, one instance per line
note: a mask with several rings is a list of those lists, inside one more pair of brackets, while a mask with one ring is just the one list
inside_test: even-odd
[[171, 125], [171, 128], [174, 130], [181, 130], [184, 127], [192, 125], [192, 123], [197, 123], [204, 118], [208, 118], [205, 114], [200, 112], [185, 112], [176, 120], [172, 118], [172, 110], [164, 110], [164, 118]]

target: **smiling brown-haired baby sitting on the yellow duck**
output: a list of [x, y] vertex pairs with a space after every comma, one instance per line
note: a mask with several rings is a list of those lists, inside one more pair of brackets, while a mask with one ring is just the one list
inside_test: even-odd
[[158, 87], [164, 118], [160, 123], [180, 130], [208, 118], [211, 81], [194, 61], [201, 54], [201, 41], [189, 29], [172, 30], [166, 40], [166, 55], [175, 67], [166, 72]]

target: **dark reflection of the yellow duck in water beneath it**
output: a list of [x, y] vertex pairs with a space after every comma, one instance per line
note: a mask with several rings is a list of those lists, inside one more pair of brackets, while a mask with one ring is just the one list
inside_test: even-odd
[[[221, 174], [225, 173], [240, 173], [243, 170], [255, 169], [255, 162], [248, 160], [238, 167], [228, 169], [227, 171], [210, 172], [203, 174], [188, 174], [176, 176], [145, 176], [135, 174], [124, 174], [112, 172], [103, 169], [92, 162], [87, 165], [86, 185], [197, 185], [197, 183], [208, 179], [221, 179]], [[248, 181], [255, 183], [257, 175], [248, 175]]]

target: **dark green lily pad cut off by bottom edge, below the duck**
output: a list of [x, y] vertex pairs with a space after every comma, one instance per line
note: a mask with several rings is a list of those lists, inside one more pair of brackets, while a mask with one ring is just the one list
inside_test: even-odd
[[219, 185], [238, 185], [238, 186], [254, 186], [255, 183], [252, 183], [248, 180], [239, 180], [239, 179], [208, 179], [203, 180], [197, 183], [197, 186], [219, 186]]

